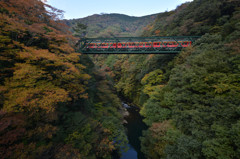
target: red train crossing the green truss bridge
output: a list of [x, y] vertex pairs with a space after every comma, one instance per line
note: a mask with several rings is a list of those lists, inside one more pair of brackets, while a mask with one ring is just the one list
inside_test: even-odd
[[191, 46], [191, 41], [164, 42], [119, 42], [119, 43], [89, 43], [89, 49], [141, 49], [141, 48], [177, 48]]

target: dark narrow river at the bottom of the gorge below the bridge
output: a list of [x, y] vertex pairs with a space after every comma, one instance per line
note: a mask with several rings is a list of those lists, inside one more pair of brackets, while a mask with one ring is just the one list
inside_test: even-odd
[[143, 117], [139, 114], [140, 109], [125, 103], [123, 103], [123, 106], [129, 112], [129, 115], [125, 117], [127, 123], [124, 124], [127, 129], [129, 150], [122, 153], [121, 159], [145, 159], [144, 154], [141, 152], [139, 137], [142, 136], [142, 131], [146, 130], [147, 126], [143, 123]]

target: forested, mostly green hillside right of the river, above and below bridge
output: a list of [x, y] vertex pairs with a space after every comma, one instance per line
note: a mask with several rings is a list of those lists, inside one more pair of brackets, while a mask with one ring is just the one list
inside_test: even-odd
[[240, 1], [195, 0], [161, 13], [143, 36], [199, 35], [179, 55], [94, 61], [141, 107], [147, 158], [240, 158]]

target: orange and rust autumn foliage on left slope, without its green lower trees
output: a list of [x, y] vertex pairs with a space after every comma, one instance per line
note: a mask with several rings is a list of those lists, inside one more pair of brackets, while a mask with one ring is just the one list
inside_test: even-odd
[[[75, 39], [54, 21], [59, 10], [40, 0], [4, 0], [0, 7], [0, 156], [41, 158], [54, 149], [59, 115], [88, 98], [91, 76], [68, 43]], [[56, 158], [81, 157], [68, 145], [60, 151]]]

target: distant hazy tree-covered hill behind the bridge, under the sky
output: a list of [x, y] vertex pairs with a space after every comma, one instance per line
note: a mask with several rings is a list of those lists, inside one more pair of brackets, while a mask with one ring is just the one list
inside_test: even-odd
[[124, 14], [94, 14], [85, 18], [64, 20], [73, 27], [77, 22], [88, 26], [87, 37], [140, 36], [143, 28], [152, 23], [157, 14], [133, 17]]

